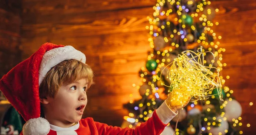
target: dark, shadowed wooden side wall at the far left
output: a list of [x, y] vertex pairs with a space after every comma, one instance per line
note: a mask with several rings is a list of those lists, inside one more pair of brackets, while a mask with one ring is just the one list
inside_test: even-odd
[[21, 61], [21, 0], [0, 0], [0, 77]]

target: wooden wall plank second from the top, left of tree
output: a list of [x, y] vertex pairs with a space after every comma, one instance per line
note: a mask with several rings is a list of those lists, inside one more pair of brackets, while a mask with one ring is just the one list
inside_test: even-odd
[[[106, 25], [109, 27], [113, 27], [115, 25], [124, 25], [125, 22], [129, 22], [131, 24], [134, 22], [136, 18], [142, 18], [145, 16], [145, 13], [150, 15], [152, 12], [152, 8], [150, 9], [151, 12], [148, 11], [149, 8], [142, 8], [142, 9], [128, 9], [124, 11], [105, 11], [105, 12], [96, 12], [92, 14], [88, 13], [80, 13], [80, 14], [65, 14], [60, 12], [58, 14], [41, 14], [41, 12], [37, 13], [37, 17], [31, 14], [30, 17], [23, 17], [24, 27], [26, 28], [27, 25], [38, 26], [39, 24], [48, 24], [52, 23], [56, 25], [56, 30], [61, 27], [69, 27], [69, 28], [86, 28], [87, 25], [94, 26], [94, 28], [90, 28], [91, 30], [96, 30], [96, 28], [102, 28], [102, 25]], [[44, 19], [41, 17], [45, 17]], [[143, 17], [145, 21], [146, 18]], [[58, 25], [57, 25], [58, 24]], [[128, 24], [126, 24], [128, 25]], [[125, 26], [123, 26], [125, 27]]]

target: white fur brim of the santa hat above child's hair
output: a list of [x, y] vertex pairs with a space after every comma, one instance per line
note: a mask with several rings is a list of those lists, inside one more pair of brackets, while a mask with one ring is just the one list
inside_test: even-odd
[[44, 53], [44, 56], [39, 68], [39, 85], [43, 81], [44, 76], [52, 67], [68, 59], [76, 59], [83, 63], [85, 63], [86, 61], [86, 57], [84, 53], [76, 50], [70, 45], [54, 48]]

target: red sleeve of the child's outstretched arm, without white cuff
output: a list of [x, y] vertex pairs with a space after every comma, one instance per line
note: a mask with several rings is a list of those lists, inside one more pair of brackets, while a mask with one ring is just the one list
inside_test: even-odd
[[[94, 122], [94, 121], [92, 121]], [[151, 118], [135, 129], [112, 127], [107, 124], [94, 122], [99, 135], [160, 135], [167, 124], [163, 124], [160, 118], [157, 116], [156, 111], [154, 111]]]

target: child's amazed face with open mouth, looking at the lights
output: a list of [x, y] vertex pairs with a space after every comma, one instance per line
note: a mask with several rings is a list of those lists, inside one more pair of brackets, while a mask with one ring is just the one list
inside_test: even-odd
[[49, 99], [47, 115], [63, 124], [78, 122], [87, 104], [87, 79], [80, 79], [60, 87], [55, 98]]

